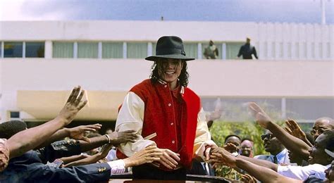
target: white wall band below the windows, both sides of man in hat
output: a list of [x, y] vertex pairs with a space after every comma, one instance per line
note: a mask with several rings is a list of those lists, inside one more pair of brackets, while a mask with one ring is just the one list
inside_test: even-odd
[[[2, 115], [17, 111], [18, 90], [128, 91], [147, 79], [150, 61], [133, 59], [22, 59], [1, 61]], [[334, 63], [330, 61], [188, 62], [190, 88], [200, 96], [332, 97]]]

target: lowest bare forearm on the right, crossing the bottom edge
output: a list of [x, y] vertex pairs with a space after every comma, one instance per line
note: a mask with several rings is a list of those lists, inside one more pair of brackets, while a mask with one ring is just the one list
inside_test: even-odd
[[256, 179], [259, 179], [261, 182], [300, 182], [296, 179], [290, 179], [279, 175], [278, 172], [275, 172], [269, 168], [265, 168], [261, 165], [256, 165], [249, 162], [248, 160], [243, 160], [242, 158], [237, 158], [235, 163], [237, 168], [245, 170]]

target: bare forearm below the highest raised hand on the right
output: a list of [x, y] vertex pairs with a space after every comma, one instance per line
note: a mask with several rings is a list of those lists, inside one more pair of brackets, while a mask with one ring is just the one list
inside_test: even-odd
[[282, 127], [278, 126], [275, 122], [270, 122], [268, 125], [268, 130], [270, 130], [276, 138], [285, 146], [286, 149], [289, 149], [292, 152], [302, 155], [303, 158], [309, 157], [309, 148], [301, 139], [292, 136]]

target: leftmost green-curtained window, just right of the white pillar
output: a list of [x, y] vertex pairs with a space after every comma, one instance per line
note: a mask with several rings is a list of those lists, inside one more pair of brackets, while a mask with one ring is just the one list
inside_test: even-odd
[[73, 58], [73, 42], [53, 42], [53, 58]]

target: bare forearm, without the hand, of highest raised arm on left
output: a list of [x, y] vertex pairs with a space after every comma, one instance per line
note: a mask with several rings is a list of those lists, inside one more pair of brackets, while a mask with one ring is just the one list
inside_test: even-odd
[[37, 127], [18, 132], [18, 134], [8, 139], [10, 158], [21, 156], [23, 153], [35, 149], [42, 144], [42, 139], [48, 139], [63, 125], [65, 125], [65, 122], [56, 118]]

